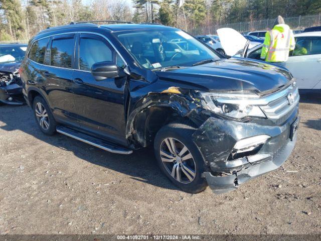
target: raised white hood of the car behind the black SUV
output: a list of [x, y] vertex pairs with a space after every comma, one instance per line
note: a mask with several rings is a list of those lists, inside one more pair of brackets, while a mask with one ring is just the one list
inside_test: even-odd
[[247, 39], [234, 29], [222, 28], [218, 29], [217, 33], [225, 53], [229, 56], [234, 56], [246, 45]]

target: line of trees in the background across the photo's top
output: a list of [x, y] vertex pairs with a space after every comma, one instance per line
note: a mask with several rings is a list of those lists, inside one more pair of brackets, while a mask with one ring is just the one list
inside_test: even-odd
[[[0, 0], [0, 40], [29, 39], [47, 27], [73, 21], [156, 21], [204, 34], [227, 23], [272, 21], [278, 15], [289, 18], [321, 13], [321, 0], [185, 0], [180, 8], [180, 0], [132, 0], [133, 10], [127, 1], [89, 0], [88, 5], [84, 5], [82, 0]], [[26, 5], [22, 7], [22, 3]], [[312, 20], [311, 25], [319, 25], [317, 19]], [[260, 28], [270, 27], [271, 21]], [[295, 27], [295, 21], [288, 24]], [[237, 26], [233, 28], [238, 29]], [[242, 26], [239, 25], [240, 30], [244, 29]]]

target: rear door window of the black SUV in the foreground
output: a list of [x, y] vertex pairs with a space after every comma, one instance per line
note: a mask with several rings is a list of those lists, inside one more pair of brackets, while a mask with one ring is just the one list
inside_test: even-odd
[[74, 45], [74, 38], [53, 39], [50, 50], [50, 65], [72, 68]]

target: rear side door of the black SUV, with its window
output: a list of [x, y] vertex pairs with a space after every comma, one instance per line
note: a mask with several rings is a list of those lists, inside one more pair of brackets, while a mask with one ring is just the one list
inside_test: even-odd
[[46, 92], [54, 115], [61, 122], [75, 122], [72, 93], [75, 34], [53, 36], [49, 41], [49, 66], [43, 71]]

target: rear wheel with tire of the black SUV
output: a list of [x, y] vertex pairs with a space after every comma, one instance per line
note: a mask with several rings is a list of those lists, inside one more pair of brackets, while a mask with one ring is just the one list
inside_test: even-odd
[[[51, 109], [41, 96], [35, 97], [33, 101], [33, 110], [37, 125], [40, 130], [48, 136], [54, 135], [56, 133], [57, 123], [54, 119]], [[41, 121], [42, 118], [44, 118], [43, 121]]]

